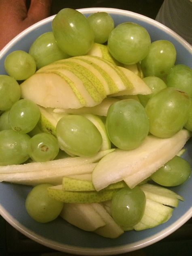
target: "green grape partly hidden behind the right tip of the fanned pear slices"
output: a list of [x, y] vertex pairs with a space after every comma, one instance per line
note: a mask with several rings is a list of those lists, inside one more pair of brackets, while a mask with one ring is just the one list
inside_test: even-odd
[[139, 101], [141, 102], [143, 107], [145, 107], [150, 98], [152, 98], [157, 92], [160, 92], [160, 90], [166, 88], [167, 86], [165, 82], [159, 77], [144, 77], [143, 81], [149, 86], [152, 91], [151, 94], [138, 95]]

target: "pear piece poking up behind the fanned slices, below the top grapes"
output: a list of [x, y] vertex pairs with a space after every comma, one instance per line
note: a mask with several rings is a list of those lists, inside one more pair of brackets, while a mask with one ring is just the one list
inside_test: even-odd
[[87, 55], [97, 56], [105, 60], [108, 60], [117, 66], [120, 66], [120, 63], [117, 60], [115, 60], [109, 52], [107, 45], [94, 43], [90, 51], [88, 51]]

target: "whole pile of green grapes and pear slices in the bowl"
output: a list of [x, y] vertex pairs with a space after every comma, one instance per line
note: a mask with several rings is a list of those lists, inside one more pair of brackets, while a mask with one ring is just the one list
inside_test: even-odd
[[[62, 9], [0, 75], [0, 182], [31, 186], [37, 222], [117, 238], [171, 218], [191, 175], [192, 70], [170, 41]], [[182, 202], [180, 202], [182, 203]], [[177, 210], [177, 209], [175, 209]]]

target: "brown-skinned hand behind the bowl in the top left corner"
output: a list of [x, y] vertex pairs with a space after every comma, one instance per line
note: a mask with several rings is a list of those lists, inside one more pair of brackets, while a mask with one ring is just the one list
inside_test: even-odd
[[21, 31], [49, 17], [52, 0], [0, 0], [0, 50]]

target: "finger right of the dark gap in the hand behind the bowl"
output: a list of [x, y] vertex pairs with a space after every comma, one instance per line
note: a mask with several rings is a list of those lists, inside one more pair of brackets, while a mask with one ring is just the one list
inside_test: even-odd
[[36, 23], [49, 17], [52, 0], [31, 0], [27, 20], [29, 23]]

